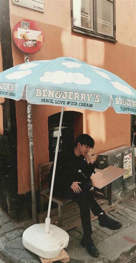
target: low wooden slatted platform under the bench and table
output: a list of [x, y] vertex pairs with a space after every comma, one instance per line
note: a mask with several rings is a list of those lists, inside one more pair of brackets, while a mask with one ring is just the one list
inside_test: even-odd
[[[108, 204], [108, 200], [100, 197], [95, 198], [105, 212], [109, 212], [111, 210], [114, 210], [116, 205], [113, 203], [112, 205]], [[91, 221], [98, 218], [98, 216], [94, 216], [92, 211], [90, 211], [91, 215]], [[38, 221], [39, 223], [44, 223], [45, 218], [47, 217], [47, 211], [38, 215]], [[58, 208], [54, 208], [50, 211], [50, 221], [51, 224], [57, 225], [58, 223]], [[81, 218], [80, 218], [80, 211], [77, 203], [72, 202], [70, 204], [67, 204], [63, 206], [63, 226], [62, 229], [65, 231], [68, 231], [69, 229], [72, 229], [74, 227], [81, 226]]]

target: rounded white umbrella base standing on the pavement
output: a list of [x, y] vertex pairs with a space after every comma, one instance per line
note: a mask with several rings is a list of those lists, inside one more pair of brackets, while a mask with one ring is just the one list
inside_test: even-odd
[[49, 225], [49, 233], [44, 233], [45, 223], [34, 224], [23, 233], [23, 245], [42, 258], [55, 258], [69, 243], [69, 235], [58, 226]]

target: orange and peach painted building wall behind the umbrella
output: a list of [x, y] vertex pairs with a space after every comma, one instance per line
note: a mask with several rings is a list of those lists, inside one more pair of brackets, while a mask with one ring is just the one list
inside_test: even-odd
[[[131, 86], [135, 86], [135, 48], [133, 47], [133, 41], [126, 41], [126, 36], [124, 36], [124, 39], [123, 36], [120, 36], [120, 29], [118, 29], [118, 39], [120, 43], [96, 39], [71, 31], [70, 0], [45, 1], [44, 14], [15, 6], [12, 4], [11, 0], [9, 1], [11, 31], [18, 21], [25, 18], [36, 20], [44, 31], [44, 45], [38, 53], [30, 55], [30, 61], [37, 59], [53, 59], [61, 56], [76, 57], [77, 59], [86, 61], [88, 64], [109, 70], [123, 78]], [[130, 2], [133, 1], [130, 0]], [[118, 0], [116, 8], [119, 5], [121, 5], [121, 0]], [[117, 12], [117, 28], [118, 26], [121, 28], [121, 17], [123, 17], [122, 21], [124, 22], [124, 17], [127, 15], [128, 10], [124, 8], [123, 11], [124, 14], [122, 14], [122, 16]], [[130, 13], [133, 13], [133, 5], [131, 5]], [[125, 26], [128, 26], [127, 22]], [[129, 28], [127, 29], [129, 30]], [[14, 65], [23, 63], [23, 53], [19, 51], [13, 43], [12, 51]], [[113, 108], [109, 108], [105, 112], [94, 112], [75, 108], [65, 108], [65, 110], [75, 110], [83, 113], [83, 133], [88, 133], [94, 138], [98, 153], [123, 145], [130, 145], [129, 114], [116, 114]], [[60, 111], [60, 107], [32, 105], [34, 162], [37, 189], [38, 164], [49, 161], [48, 116]], [[16, 102], [16, 114], [18, 129], [18, 193], [25, 193], [30, 191], [25, 101], [21, 100]], [[81, 127], [76, 129], [76, 135], [78, 132], [80, 133], [80, 129]]]

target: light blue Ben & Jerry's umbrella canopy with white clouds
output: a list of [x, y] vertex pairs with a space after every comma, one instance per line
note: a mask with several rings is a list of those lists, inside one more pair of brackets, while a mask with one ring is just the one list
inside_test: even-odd
[[[0, 97], [136, 114], [136, 91], [118, 76], [71, 57], [20, 64], [0, 73]], [[26, 97], [25, 97], [26, 96]]]

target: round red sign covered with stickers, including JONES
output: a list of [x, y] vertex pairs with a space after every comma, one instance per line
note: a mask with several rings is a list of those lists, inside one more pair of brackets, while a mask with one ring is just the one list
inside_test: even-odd
[[15, 45], [27, 54], [38, 52], [44, 43], [44, 35], [40, 26], [29, 19], [18, 22], [13, 29]]

